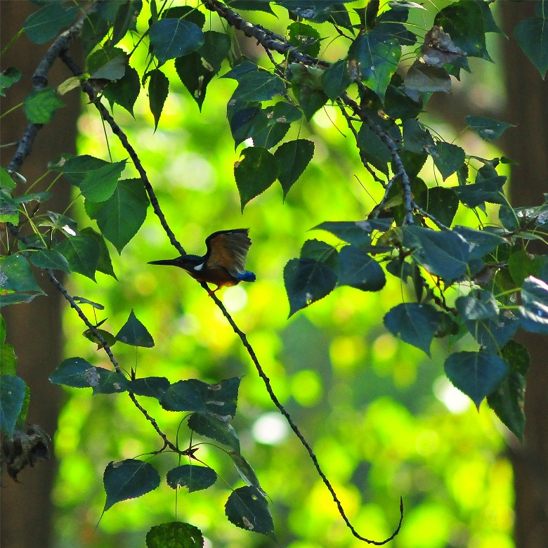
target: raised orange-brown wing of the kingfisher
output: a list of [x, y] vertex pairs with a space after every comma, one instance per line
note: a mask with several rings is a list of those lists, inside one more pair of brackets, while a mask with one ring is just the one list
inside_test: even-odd
[[247, 251], [251, 245], [248, 233], [249, 228], [235, 228], [209, 235], [206, 238], [207, 268], [226, 268], [235, 278], [244, 273]]

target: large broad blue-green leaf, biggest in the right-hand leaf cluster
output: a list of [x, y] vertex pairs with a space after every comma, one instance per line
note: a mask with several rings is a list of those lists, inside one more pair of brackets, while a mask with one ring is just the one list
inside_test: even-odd
[[454, 282], [467, 273], [469, 245], [457, 233], [404, 226], [403, 243], [419, 265], [445, 282]]

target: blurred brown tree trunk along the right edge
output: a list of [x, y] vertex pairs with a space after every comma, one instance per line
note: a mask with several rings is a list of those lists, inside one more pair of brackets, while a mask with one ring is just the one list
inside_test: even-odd
[[[548, 192], [548, 82], [516, 44], [512, 32], [519, 20], [533, 17], [536, 2], [502, 2], [508, 122], [504, 150], [519, 163], [511, 172], [514, 207], [541, 204]], [[530, 247], [541, 252], [541, 247]], [[546, 250], [544, 249], [544, 253]], [[514, 465], [516, 548], [548, 546], [548, 370], [547, 339], [523, 333], [520, 342], [531, 356], [526, 389], [526, 441], [511, 448]]]

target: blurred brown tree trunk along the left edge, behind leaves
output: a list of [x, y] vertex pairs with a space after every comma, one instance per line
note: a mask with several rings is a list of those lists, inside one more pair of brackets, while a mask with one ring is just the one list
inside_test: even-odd
[[[2, 47], [17, 34], [27, 15], [36, 10], [30, 2], [0, 2], [0, 35]], [[2, 57], [2, 70], [17, 67], [22, 78], [2, 98], [2, 110], [18, 105], [32, 89], [31, 77], [48, 44], [37, 46], [22, 35]], [[56, 61], [49, 74], [51, 86], [70, 77], [67, 68]], [[21, 173], [32, 183], [47, 171], [47, 163], [60, 152], [74, 152], [80, 97], [72, 92], [63, 97], [66, 106], [58, 110], [52, 124], [38, 133], [32, 153], [25, 160]], [[27, 120], [18, 108], [1, 122], [1, 144], [14, 143], [21, 138]], [[1, 149], [1, 164], [6, 167], [15, 147]], [[45, 184], [51, 182], [44, 181]], [[44, 190], [36, 188], [35, 191]], [[44, 209], [64, 211], [69, 203], [70, 188], [58, 181], [55, 197], [44, 204]], [[61, 360], [62, 326], [60, 294], [48, 279], [38, 280], [48, 296], [39, 296], [30, 304], [4, 308], [1, 313], [8, 324], [8, 343], [15, 347], [18, 374], [30, 386], [30, 410], [27, 422], [38, 424], [53, 438], [56, 430], [61, 392], [48, 381], [48, 375]], [[53, 451], [52, 451], [53, 453]], [[51, 546], [53, 504], [51, 488], [56, 473], [53, 461], [39, 461], [34, 469], [25, 469], [15, 483], [8, 476], [2, 478], [1, 529], [2, 546], [6, 548], [41, 548]]]

